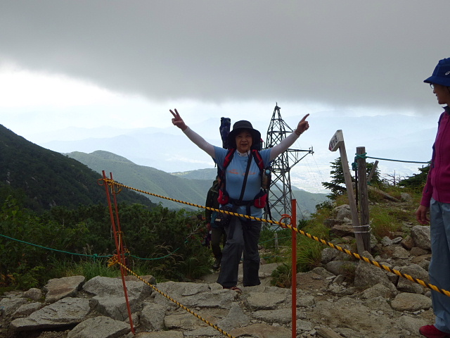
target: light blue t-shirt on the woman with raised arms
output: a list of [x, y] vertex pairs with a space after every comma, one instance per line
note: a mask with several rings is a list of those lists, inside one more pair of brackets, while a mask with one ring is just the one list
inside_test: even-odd
[[[269, 164], [271, 149], [264, 149], [259, 151], [262, 157], [264, 165]], [[224, 148], [219, 148], [214, 146], [214, 154], [217, 165], [221, 170], [224, 169], [224, 160], [228, 150]], [[245, 191], [243, 196], [243, 201], [252, 201], [255, 196], [261, 191], [261, 170], [259, 169], [255, 158], [253, 155], [250, 156], [239, 156], [236, 152], [231, 159], [230, 164], [226, 167], [225, 180], [226, 180], [226, 192], [228, 192], [231, 199], [239, 199], [240, 192], [242, 190], [242, 184], [245, 177], [245, 169], [247, 169], [247, 164], [249, 159], [252, 161], [250, 163], [250, 169], [248, 170], [247, 183], [245, 184]], [[231, 205], [231, 204], [230, 204]], [[246, 214], [246, 206], [238, 206], [236, 213]], [[262, 209], [256, 208], [255, 206], [250, 207], [251, 215], [254, 217], [261, 218]]]

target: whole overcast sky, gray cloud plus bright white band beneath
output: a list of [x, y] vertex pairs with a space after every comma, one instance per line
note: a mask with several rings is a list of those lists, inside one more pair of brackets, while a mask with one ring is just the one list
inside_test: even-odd
[[167, 127], [169, 108], [188, 125], [263, 111], [269, 123], [276, 102], [298, 120], [345, 111], [435, 123], [442, 109], [423, 80], [450, 56], [449, 9], [448, 0], [2, 0], [0, 123], [38, 142], [37, 132], [68, 126]]

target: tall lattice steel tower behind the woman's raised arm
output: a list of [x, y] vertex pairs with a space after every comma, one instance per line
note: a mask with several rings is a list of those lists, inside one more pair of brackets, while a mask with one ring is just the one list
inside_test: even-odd
[[[297, 126], [296, 126], [297, 127]], [[278, 103], [274, 108], [269, 129], [267, 130], [266, 148], [271, 148], [280, 143], [293, 130], [281, 118]], [[306, 152], [302, 157], [301, 153]], [[292, 214], [291, 201], [293, 192], [290, 186], [290, 169], [302, 161], [308, 154], [314, 154], [312, 147], [308, 150], [288, 149], [283, 154], [274, 159], [271, 163], [272, 182], [269, 191], [269, 207], [274, 218], [283, 214]], [[264, 213], [264, 218], [269, 215]]]

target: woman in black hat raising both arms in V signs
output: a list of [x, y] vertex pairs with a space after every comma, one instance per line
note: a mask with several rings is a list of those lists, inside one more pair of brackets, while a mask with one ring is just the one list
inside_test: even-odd
[[[229, 146], [233, 151], [213, 146], [191, 130], [179, 115], [178, 111], [170, 110], [172, 123], [179, 127], [191, 141], [208, 155], [214, 158], [218, 167], [224, 170], [224, 163], [229, 160], [224, 170], [221, 196], [219, 201], [228, 206], [234, 213], [262, 218], [264, 205], [255, 203], [258, 194], [262, 190], [262, 173], [257, 161], [259, 158], [264, 165], [274, 160], [283, 151], [288, 149], [300, 135], [309, 128], [305, 115], [297, 125], [297, 128], [279, 144], [269, 149], [256, 151], [255, 144], [259, 144], [261, 133], [253, 129], [252, 124], [240, 120], [233, 125], [229, 133]], [[230, 154], [231, 153], [231, 154]], [[257, 153], [257, 154], [256, 154]], [[231, 155], [231, 156], [230, 156]], [[231, 159], [230, 159], [231, 157]], [[222, 213], [222, 215], [224, 215]], [[259, 281], [259, 252], [258, 241], [261, 232], [261, 222], [248, 218], [231, 216], [229, 224], [225, 227], [227, 241], [222, 250], [221, 269], [217, 283], [224, 289], [233, 289], [241, 292], [237, 287], [238, 268], [243, 253], [243, 286], [251, 287], [261, 284]]]

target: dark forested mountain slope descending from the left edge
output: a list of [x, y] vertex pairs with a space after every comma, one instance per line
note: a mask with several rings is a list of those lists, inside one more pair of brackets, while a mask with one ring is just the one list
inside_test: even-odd
[[[42, 148], [0, 125], [0, 201], [14, 196], [25, 208], [40, 212], [54, 206], [106, 204], [105, 188], [86, 165]], [[132, 191], [121, 201], [155, 206]]]

